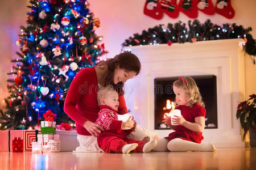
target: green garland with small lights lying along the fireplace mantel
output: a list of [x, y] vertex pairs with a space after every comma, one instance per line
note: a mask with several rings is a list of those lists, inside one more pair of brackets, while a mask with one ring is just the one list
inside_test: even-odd
[[[251, 27], [243, 28], [242, 25], [223, 24], [217, 25], [206, 20], [203, 24], [199, 20], [188, 21], [188, 27], [185, 23], [168, 23], [167, 26], [160, 24], [148, 30], [143, 30], [141, 34], [135, 33], [123, 42], [122, 46], [134, 45], [158, 45], [174, 42], [196, 42], [221, 39], [243, 39], [245, 40], [245, 52], [256, 56], [256, 41], [249, 33]], [[254, 61], [255, 63], [255, 61]]]

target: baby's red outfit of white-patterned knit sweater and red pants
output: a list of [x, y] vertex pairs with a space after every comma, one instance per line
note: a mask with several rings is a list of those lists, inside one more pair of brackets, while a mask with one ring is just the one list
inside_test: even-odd
[[118, 120], [117, 111], [114, 111], [107, 105], [100, 105], [101, 111], [98, 112], [98, 118], [95, 124], [102, 126], [104, 131], [97, 136], [98, 146], [104, 152], [122, 153], [122, 147], [130, 143], [138, 143], [138, 147], [131, 152], [143, 152], [142, 141], [128, 139], [126, 135], [130, 134], [134, 129], [122, 130], [122, 121]]

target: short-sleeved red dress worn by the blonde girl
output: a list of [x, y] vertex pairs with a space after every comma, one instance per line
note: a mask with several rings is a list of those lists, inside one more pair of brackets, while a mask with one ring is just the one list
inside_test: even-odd
[[[195, 117], [205, 117], [205, 108], [201, 107], [199, 104], [194, 104], [192, 108], [179, 105], [176, 109], [181, 111], [181, 115], [186, 121], [192, 123], [195, 123]], [[165, 137], [166, 139], [169, 139], [169, 141], [175, 138], [181, 138], [186, 141], [201, 143], [201, 141], [204, 139], [201, 132], [189, 130], [182, 125], [177, 125], [174, 130], [175, 131], [170, 133], [168, 137]]]

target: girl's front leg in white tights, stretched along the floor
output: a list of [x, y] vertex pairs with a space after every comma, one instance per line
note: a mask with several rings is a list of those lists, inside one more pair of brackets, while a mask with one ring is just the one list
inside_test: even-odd
[[187, 151], [216, 151], [215, 148], [211, 143], [195, 143], [191, 141], [185, 141], [180, 138], [172, 139], [168, 142], [167, 148], [169, 151], [172, 152], [187, 152]]

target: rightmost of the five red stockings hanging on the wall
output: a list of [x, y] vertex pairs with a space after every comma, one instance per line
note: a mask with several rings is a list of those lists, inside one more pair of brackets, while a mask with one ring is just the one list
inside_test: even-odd
[[234, 9], [231, 6], [231, 0], [217, 0], [215, 11], [228, 19], [233, 18], [235, 14]]

